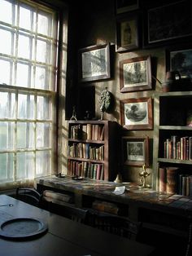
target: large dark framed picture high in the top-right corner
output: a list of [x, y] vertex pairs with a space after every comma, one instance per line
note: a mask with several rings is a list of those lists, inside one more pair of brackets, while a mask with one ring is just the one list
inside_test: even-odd
[[[158, 4], [158, 2], [157, 2]], [[172, 2], [146, 11], [144, 44], [165, 45], [168, 42], [183, 42], [192, 35], [190, 0]]]

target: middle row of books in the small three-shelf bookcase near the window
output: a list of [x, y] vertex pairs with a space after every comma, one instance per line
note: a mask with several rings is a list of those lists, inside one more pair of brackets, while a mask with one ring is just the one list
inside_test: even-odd
[[94, 146], [89, 143], [72, 143], [68, 145], [68, 157], [104, 160], [104, 145]]

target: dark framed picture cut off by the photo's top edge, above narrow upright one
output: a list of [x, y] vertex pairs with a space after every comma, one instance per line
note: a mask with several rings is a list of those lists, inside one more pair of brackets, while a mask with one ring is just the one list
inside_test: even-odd
[[138, 9], [138, 0], [116, 0], [116, 14]]

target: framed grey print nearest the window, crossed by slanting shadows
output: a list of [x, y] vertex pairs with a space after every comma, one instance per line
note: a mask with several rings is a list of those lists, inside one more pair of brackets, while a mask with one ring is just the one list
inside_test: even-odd
[[89, 82], [111, 77], [109, 44], [79, 50], [79, 80]]

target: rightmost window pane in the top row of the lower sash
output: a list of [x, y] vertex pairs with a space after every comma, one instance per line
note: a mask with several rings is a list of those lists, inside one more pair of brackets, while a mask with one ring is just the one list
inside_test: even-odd
[[37, 96], [37, 119], [50, 119], [50, 97]]

